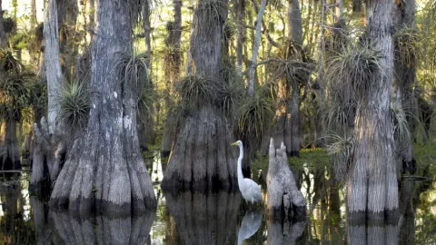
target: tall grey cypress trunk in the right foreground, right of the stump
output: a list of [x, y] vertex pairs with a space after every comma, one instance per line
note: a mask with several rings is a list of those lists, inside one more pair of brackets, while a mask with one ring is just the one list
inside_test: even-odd
[[[381, 52], [380, 70], [370, 78], [369, 90], [358, 102], [355, 116], [357, 145], [348, 181], [348, 210], [382, 219], [398, 211], [398, 183], [394, 162], [390, 93], [393, 64], [391, 1], [369, 1], [368, 42]], [[362, 95], [362, 94], [361, 94]]]

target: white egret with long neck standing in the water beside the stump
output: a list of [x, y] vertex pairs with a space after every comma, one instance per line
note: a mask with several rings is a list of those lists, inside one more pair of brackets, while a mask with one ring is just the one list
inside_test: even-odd
[[232, 145], [239, 146], [239, 158], [238, 158], [238, 185], [239, 191], [243, 194], [245, 201], [260, 202], [262, 201], [261, 187], [249, 178], [243, 178], [243, 142], [233, 142]]

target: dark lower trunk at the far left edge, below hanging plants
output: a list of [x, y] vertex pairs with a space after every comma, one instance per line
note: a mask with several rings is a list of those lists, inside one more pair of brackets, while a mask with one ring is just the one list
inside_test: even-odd
[[21, 168], [18, 141], [16, 139], [16, 121], [6, 115], [0, 125], [0, 163], [2, 170]]

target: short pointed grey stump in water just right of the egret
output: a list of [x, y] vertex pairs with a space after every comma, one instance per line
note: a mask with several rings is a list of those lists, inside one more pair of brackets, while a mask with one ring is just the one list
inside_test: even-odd
[[[268, 190], [268, 213], [272, 217], [302, 216], [306, 214], [306, 201], [298, 190], [288, 165], [286, 147], [274, 149], [274, 140], [270, 142], [270, 161], [266, 177]], [[284, 212], [284, 213], [283, 213]]]

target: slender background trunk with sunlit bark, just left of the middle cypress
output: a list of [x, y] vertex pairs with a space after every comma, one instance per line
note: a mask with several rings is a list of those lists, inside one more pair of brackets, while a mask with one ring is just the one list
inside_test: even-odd
[[173, 85], [180, 77], [180, 65], [182, 63], [182, 55], [180, 52], [180, 41], [182, 38], [182, 0], [174, 0], [174, 21], [166, 25], [167, 36], [165, 38], [165, 46], [167, 54], [165, 54], [165, 79], [166, 91], [165, 107], [167, 110], [166, 121], [163, 127], [163, 136], [161, 142], [161, 155], [168, 157], [171, 152], [171, 147], [174, 141], [174, 129], [170, 126], [171, 98], [173, 96]]

